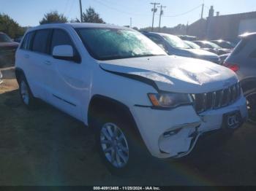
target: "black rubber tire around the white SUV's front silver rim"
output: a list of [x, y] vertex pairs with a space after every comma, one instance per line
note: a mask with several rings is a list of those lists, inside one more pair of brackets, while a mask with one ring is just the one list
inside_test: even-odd
[[[108, 160], [108, 158], [105, 155], [105, 152], [103, 151], [101, 144], [101, 135], [102, 129], [105, 127], [106, 124], [116, 125], [124, 134], [124, 137], [127, 141], [127, 145], [129, 148], [128, 161], [124, 166], [116, 167], [115, 165], [113, 165]], [[143, 163], [143, 160], [146, 160], [148, 155], [146, 155], [145, 150], [143, 150], [143, 148], [140, 147], [140, 141], [138, 141], [138, 136], [135, 135], [135, 132], [132, 132], [132, 129], [134, 127], [131, 128], [131, 122], [125, 120], [124, 117], [118, 117], [116, 114], [97, 114], [97, 122], [94, 121], [94, 128], [95, 140], [97, 144], [97, 149], [99, 151], [99, 156], [101, 157], [103, 163], [105, 163], [106, 167], [108, 168], [111, 174], [117, 176], [132, 176], [132, 174], [136, 173], [137, 171], [140, 171], [141, 168], [143, 168], [141, 164]]]

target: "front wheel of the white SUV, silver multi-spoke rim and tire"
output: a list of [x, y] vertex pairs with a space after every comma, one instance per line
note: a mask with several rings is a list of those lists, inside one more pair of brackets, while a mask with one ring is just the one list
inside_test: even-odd
[[118, 176], [135, 171], [138, 163], [145, 157], [142, 157], [143, 152], [136, 139], [133, 139], [131, 125], [114, 114], [100, 116], [102, 117], [97, 117], [95, 139], [99, 155], [108, 170]]

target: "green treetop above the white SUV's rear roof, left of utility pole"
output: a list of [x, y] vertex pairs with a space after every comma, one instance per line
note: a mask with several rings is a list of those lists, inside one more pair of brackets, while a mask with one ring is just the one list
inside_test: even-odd
[[63, 14], [59, 14], [57, 11], [52, 11], [46, 13], [39, 23], [40, 25], [47, 23], [67, 23], [67, 17], [65, 17]]

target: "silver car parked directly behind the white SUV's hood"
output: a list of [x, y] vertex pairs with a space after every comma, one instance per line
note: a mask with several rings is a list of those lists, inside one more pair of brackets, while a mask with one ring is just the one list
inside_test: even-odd
[[143, 32], [145, 36], [151, 39], [165, 50], [169, 55], [178, 55], [189, 58], [198, 58], [214, 63], [220, 63], [218, 55], [205, 50], [189, 47], [183, 40], [171, 34]]

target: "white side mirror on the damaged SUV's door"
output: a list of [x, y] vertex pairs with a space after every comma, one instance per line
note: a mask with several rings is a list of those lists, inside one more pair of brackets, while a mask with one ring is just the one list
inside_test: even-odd
[[59, 45], [53, 47], [53, 58], [65, 61], [75, 61], [75, 55], [72, 46]]

